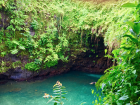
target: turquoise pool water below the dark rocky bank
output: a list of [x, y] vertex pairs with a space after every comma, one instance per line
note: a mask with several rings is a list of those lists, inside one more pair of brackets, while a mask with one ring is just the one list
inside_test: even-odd
[[[66, 87], [68, 94], [63, 100], [64, 105], [93, 105], [92, 101], [96, 99], [91, 89], [95, 89], [95, 85], [90, 82], [96, 82], [101, 75], [71, 71], [35, 82], [8, 82], [0, 85], [0, 105], [53, 105], [52, 102], [47, 103], [50, 99], [43, 98], [44, 93], [53, 95], [53, 85], [59, 80]], [[54, 95], [53, 95], [54, 96]]]

